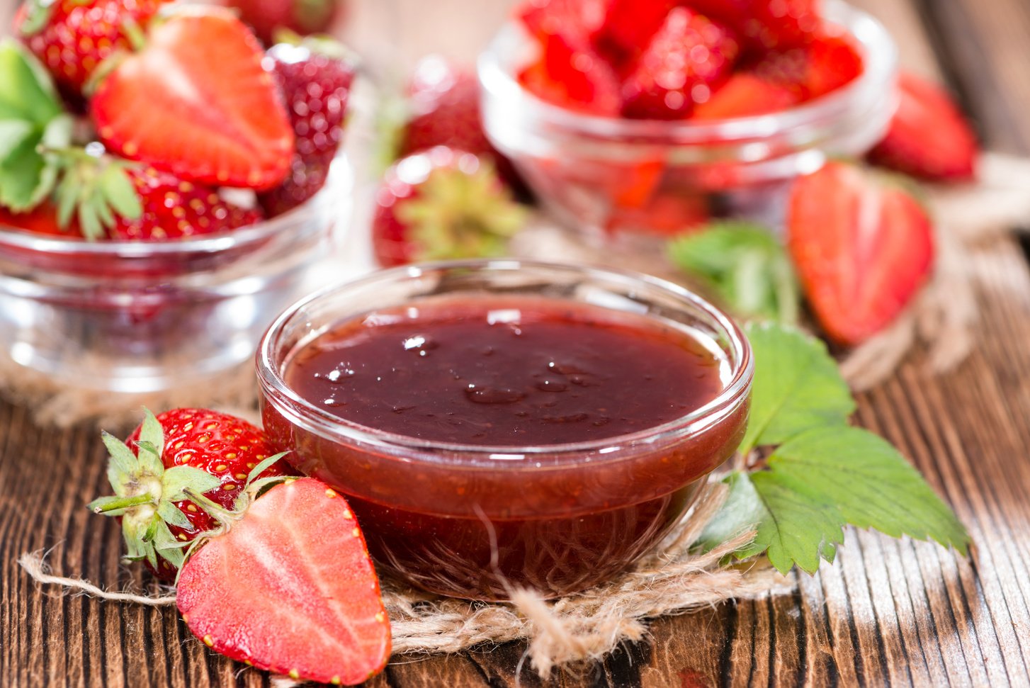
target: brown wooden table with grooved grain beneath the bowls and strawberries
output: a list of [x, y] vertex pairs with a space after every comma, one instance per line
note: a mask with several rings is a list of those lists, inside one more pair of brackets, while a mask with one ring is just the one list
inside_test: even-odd
[[[906, 65], [956, 89], [989, 146], [1030, 151], [1030, 3], [858, 4], [889, 25]], [[441, 3], [458, 5], [482, 11], [475, 0]], [[968, 260], [977, 349], [936, 379], [906, 364], [862, 395], [858, 420], [954, 505], [974, 555], [851, 531], [837, 562], [797, 576], [794, 594], [657, 620], [650, 641], [545, 685], [1030, 684], [1030, 269], [1010, 239]], [[118, 563], [115, 524], [82, 508], [103, 493], [103, 466], [92, 428], [43, 429], [0, 405], [0, 685], [268, 685], [207, 651], [172, 610], [58, 596], [16, 566], [21, 553], [53, 547], [62, 572], [111, 588], [141, 583]], [[522, 650], [399, 658], [370, 685], [514, 686]], [[541, 685], [528, 669], [520, 678]]]

